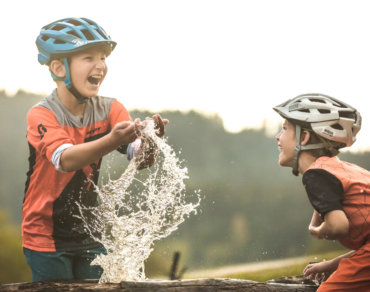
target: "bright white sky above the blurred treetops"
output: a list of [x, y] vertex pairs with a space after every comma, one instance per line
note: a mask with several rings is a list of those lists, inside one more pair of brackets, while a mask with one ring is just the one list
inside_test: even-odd
[[275, 126], [273, 106], [319, 92], [359, 110], [353, 148], [370, 147], [368, 1], [42, 3], [3, 4], [0, 89], [50, 93], [55, 83], [37, 62], [36, 37], [55, 20], [86, 17], [118, 43], [99, 93], [128, 109], [219, 113], [238, 131], [264, 119]]

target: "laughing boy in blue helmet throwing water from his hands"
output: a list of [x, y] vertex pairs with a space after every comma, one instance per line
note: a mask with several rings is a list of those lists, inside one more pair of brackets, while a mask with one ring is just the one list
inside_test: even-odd
[[[27, 114], [24, 253], [33, 281], [100, 278], [101, 267], [90, 262], [106, 251], [84, 227], [76, 202], [98, 205], [94, 183], [104, 155], [113, 150], [128, 160], [142, 155], [139, 168], [147, 168], [157, 149], [137, 137], [135, 129], [143, 122], [133, 122], [116, 99], [98, 95], [107, 75], [105, 58], [116, 43], [97, 23], [87, 18], [55, 21], [41, 29], [36, 45], [38, 61], [49, 67], [57, 88]], [[168, 120], [158, 114], [153, 120], [162, 137]], [[143, 143], [149, 150], [141, 151]]]

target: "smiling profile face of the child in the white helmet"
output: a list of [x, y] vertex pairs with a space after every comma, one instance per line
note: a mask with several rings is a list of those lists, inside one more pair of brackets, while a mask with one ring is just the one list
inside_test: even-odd
[[297, 144], [296, 130], [289, 121], [284, 121], [283, 130], [277, 134], [276, 141], [279, 142], [280, 166], [293, 167], [294, 150]]

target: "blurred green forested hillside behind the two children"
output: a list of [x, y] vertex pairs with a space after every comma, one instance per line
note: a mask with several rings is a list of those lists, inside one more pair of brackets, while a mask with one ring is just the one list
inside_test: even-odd
[[[19, 91], [0, 92], [3, 138], [1, 153], [0, 284], [30, 281], [21, 247], [21, 208], [28, 170], [27, 111], [44, 96]], [[271, 113], [273, 110], [271, 109]], [[154, 113], [130, 111], [132, 118]], [[332, 241], [317, 241], [308, 233], [311, 207], [302, 177], [278, 164], [275, 135], [265, 128], [229, 133], [221, 117], [191, 111], [164, 111], [169, 119], [165, 137], [188, 168], [186, 194], [201, 190], [201, 206], [178, 230], [158, 242], [145, 265], [145, 274], [168, 276], [175, 251], [181, 265], [200, 270], [340, 249]], [[276, 127], [276, 133], [280, 126]], [[343, 150], [339, 158], [370, 169], [369, 152]], [[102, 162], [102, 181], [117, 179], [127, 167], [120, 154]], [[196, 197], [192, 202], [196, 202]], [[6, 236], [4, 236], [4, 234]]]

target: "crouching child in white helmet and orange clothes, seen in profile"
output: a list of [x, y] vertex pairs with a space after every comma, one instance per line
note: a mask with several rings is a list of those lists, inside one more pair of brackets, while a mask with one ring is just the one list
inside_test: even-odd
[[[302, 174], [314, 208], [309, 225], [317, 239], [339, 240], [352, 251], [303, 271], [322, 281], [317, 291], [369, 291], [370, 172], [340, 161], [339, 149], [351, 146], [361, 128], [356, 109], [318, 93], [290, 99], [273, 108], [283, 118], [276, 136], [279, 164]], [[323, 276], [324, 275], [324, 276]]]

